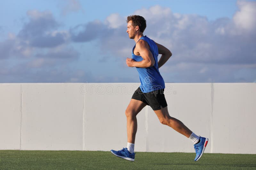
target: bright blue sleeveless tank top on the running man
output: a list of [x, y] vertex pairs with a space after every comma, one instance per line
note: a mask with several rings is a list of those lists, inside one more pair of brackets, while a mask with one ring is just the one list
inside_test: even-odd
[[[155, 60], [155, 64], [152, 67], [147, 67], [147, 68], [136, 67], [140, 76], [140, 83], [141, 83], [140, 89], [143, 93], [164, 89], [165, 88], [164, 79], [158, 70], [158, 63], [157, 63], [158, 48], [156, 46], [156, 43], [152, 39], [149, 39], [147, 36], [141, 37], [140, 39], [148, 43], [150, 51]], [[141, 61], [143, 60], [143, 58], [133, 53], [135, 46], [132, 48], [132, 59], [135, 61]]]

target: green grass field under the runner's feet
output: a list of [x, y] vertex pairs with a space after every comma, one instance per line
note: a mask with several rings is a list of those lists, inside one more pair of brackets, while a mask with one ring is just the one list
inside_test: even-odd
[[256, 169], [256, 155], [137, 152], [131, 162], [102, 151], [0, 150], [0, 169]]

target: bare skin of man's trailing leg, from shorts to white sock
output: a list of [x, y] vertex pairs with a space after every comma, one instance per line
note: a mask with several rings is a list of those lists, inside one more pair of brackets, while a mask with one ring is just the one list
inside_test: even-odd
[[162, 124], [170, 126], [172, 129], [181, 133], [182, 135], [186, 136], [187, 138], [189, 138], [190, 135], [192, 134], [192, 131], [190, 129], [188, 129], [188, 127], [185, 126], [182, 122], [180, 122], [180, 120], [178, 120], [174, 117], [171, 117], [169, 115], [167, 106], [164, 108], [161, 107], [161, 110], [154, 110], [154, 112], [156, 113], [159, 121]]

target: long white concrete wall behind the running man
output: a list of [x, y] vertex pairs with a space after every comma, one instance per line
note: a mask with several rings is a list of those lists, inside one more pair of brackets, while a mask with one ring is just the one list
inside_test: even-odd
[[[119, 150], [124, 111], [138, 83], [0, 84], [0, 149]], [[256, 154], [256, 83], [166, 83], [168, 110], [196, 134], [205, 152]], [[146, 106], [137, 116], [135, 151], [194, 152]]]

